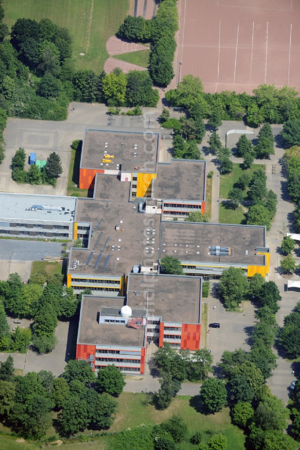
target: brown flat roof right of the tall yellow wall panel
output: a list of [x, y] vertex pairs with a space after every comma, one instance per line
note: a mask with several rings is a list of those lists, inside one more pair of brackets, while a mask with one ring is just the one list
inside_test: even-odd
[[205, 200], [205, 161], [172, 159], [157, 164], [153, 198]]

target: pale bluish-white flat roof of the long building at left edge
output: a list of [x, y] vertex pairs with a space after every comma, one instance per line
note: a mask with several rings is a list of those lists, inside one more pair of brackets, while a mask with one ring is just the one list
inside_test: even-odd
[[47, 221], [74, 221], [75, 197], [0, 193], [0, 217]]

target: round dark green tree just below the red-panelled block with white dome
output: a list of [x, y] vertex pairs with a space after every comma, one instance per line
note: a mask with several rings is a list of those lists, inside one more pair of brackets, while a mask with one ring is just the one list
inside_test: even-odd
[[125, 384], [124, 375], [114, 364], [99, 369], [97, 387], [101, 393], [107, 392], [107, 394], [118, 397]]

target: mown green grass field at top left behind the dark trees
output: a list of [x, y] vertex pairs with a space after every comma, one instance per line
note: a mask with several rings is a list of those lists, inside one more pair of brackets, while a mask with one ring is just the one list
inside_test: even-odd
[[4, 23], [10, 28], [18, 18], [49, 18], [67, 27], [78, 68], [99, 73], [108, 58], [106, 42], [128, 14], [129, 4], [130, 0], [3, 0]]

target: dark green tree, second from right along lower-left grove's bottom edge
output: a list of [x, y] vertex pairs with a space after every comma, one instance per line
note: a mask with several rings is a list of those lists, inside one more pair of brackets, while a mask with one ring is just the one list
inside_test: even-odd
[[58, 413], [58, 420], [62, 436], [68, 437], [84, 431], [89, 423], [86, 401], [77, 397], [66, 399], [63, 409]]

